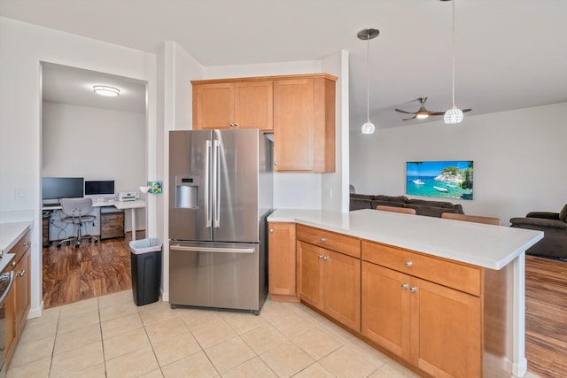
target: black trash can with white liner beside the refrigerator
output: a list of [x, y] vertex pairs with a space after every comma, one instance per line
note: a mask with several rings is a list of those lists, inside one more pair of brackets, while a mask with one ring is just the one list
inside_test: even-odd
[[130, 245], [132, 294], [136, 305], [159, 300], [161, 281], [161, 242], [159, 239], [133, 240]]

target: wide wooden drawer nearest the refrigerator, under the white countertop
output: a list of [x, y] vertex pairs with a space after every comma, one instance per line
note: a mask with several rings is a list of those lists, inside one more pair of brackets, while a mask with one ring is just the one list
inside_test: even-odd
[[303, 225], [298, 225], [296, 232], [298, 240], [315, 244], [328, 250], [338, 251], [353, 258], [361, 258], [361, 241], [359, 239]]

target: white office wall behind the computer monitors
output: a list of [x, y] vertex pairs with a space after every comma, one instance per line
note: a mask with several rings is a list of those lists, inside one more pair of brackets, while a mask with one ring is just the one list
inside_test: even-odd
[[[114, 180], [116, 193], [139, 191], [144, 146], [145, 114], [43, 102], [42, 176]], [[130, 223], [125, 217], [126, 230]], [[136, 211], [136, 228], [145, 228], [144, 209]]]

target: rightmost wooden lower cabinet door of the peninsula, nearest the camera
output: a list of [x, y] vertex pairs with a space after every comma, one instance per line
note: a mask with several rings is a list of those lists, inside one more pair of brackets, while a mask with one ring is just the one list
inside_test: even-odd
[[480, 298], [412, 277], [410, 362], [436, 377], [482, 376]]

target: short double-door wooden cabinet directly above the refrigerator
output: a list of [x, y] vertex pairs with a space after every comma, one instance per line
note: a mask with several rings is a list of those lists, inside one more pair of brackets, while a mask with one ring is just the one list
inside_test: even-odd
[[191, 81], [193, 128], [260, 128], [273, 131], [273, 82]]

